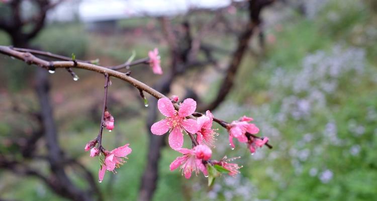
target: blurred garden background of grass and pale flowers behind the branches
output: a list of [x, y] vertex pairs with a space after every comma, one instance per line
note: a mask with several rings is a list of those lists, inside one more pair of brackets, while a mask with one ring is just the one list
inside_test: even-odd
[[[2, 2], [0, 18], [5, 19], [10, 15], [9, 2]], [[35, 5], [23, 2], [23, 18], [31, 19]], [[172, 58], [162, 16], [174, 33], [180, 32], [182, 22], [190, 22], [195, 35], [221, 12], [225, 20], [202, 37], [217, 48], [216, 62], [177, 76], [169, 93], [184, 96], [190, 88], [206, 103], [216, 96], [248, 19], [247, 2], [230, 4], [225, 0], [66, 1], [48, 11], [44, 27], [29, 44], [66, 56], [74, 53], [79, 59], [98, 58], [105, 66], [124, 63], [132, 51], [136, 58], [146, 57], [157, 47], [166, 73]], [[213, 113], [228, 122], [242, 115], [253, 117], [273, 149], [264, 147], [251, 155], [237, 144], [231, 150], [226, 130], [218, 128], [215, 157], [241, 156], [236, 162], [243, 168], [239, 175], [224, 175], [208, 187], [203, 176], [186, 180], [179, 171], [169, 171], [179, 154], [164, 147], [152, 199], [375, 200], [377, 4], [372, 0], [275, 1], [260, 18], [262, 34], [252, 37], [231, 92]], [[2, 30], [0, 45], [12, 45]], [[38, 128], [37, 121], [26, 114], [39, 111], [33, 87], [37, 67], [7, 56], [0, 56], [0, 66], [0, 155], [49, 174], [46, 161], [25, 158], [20, 151]], [[133, 77], [150, 85], [162, 77], [147, 65], [131, 70]], [[75, 72], [78, 81], [63, 69], [49, 74], [59, 146], [97, 179], [99, 162], [88, 157], [83, 147], [98, 133], [103, 76]], [[105, 147], [130, 143], [133, 152], [117, 174], [107, 173], [104, 182], [96, 184], [104, 200], [137, 200], [147, 160], [148, 112], [136, 89], [121, 80], [112, 81], [109, 110], [116, 118], [116, 129], [105, 131]], [[188, 138], [185, 141], [190, 146]], [[37, 155], [47, 152], [43, 139], [35, 146]], [[0, 200], [69, 200], [38, 177], [0, 168]], [[74, 171], [66, 168], [74, 184], [84, 188], [87, 184]]]

